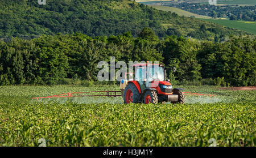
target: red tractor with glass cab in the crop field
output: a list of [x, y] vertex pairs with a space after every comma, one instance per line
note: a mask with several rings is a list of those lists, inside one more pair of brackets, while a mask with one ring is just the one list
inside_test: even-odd
[[123, 79], [120, 85], [126, 104], [185, 103], [181, 89], [173, 89], [171, 83], [166, 82], [166, 69], [163, 65], [139, 63], [133, 67], [135, 67], [134, 79]]

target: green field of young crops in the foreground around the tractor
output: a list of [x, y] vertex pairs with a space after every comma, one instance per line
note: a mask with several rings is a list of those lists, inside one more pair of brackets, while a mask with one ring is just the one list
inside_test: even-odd
[[47, 146], [255, 146], [255, 91], [182, 88], [216, 96], [126, 105], [121, 97], [31, 100], [117, 86], [0, 87], [0, 146], [39, 146], [41, 138]]

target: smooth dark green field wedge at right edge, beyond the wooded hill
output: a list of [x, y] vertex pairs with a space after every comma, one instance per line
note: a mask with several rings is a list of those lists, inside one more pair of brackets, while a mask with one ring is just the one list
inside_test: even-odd
[[250, 32], [256, 35], [256, 23], [235, 20], [222, 20], [222, 19], [202, 19], [208, 22], [224, 25], [225, 27], [236, 28], [242, 31]]

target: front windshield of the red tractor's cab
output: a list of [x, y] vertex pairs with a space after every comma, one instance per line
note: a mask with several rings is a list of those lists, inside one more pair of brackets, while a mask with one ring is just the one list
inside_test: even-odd
[[163, 67], [158, 65], [151, 65], [147, 67], [148, 80], [164, 81], [164, 70]]

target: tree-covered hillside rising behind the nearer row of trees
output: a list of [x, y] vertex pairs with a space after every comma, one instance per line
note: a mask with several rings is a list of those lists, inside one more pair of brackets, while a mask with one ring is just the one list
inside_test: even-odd
[[[199, 32], [202, 25], [208, 29], [204, 35]], [[0, 37], [5, 39], [11, 36], [31, 39], [59, 32], [79, 32], [95, 37], [131, 31], [136, 37], [144, 27], [150, 27], [159, 37], [175, 32], [185, 37], [194, 35], [192, 37], [200, 40], [214, 40], [220, 36], [220, 40], [224, 40], [229, 35], [244, 34], [126, 0], [47, 0], [46, 5], [39, 5], [35, 0], [0, 2]]]

